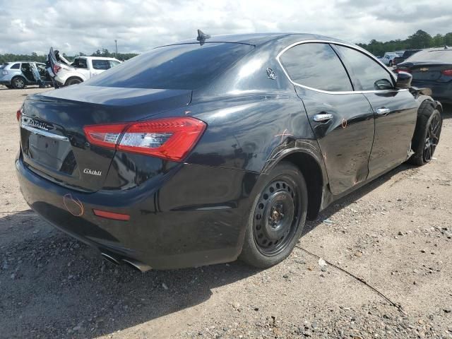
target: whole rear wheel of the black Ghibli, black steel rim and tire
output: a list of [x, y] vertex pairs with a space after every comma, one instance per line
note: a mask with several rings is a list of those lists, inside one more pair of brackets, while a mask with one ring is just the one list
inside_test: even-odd
[[287, 258], [301, 237], [308, 195], [302, 172], [290, 162], [276, 165], [260, 186], [239, 258], [268, 268]]

